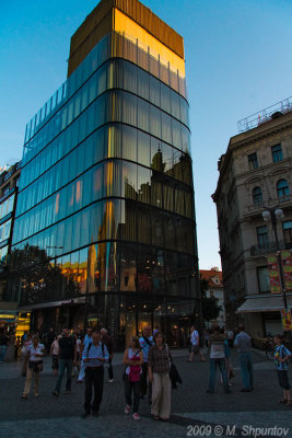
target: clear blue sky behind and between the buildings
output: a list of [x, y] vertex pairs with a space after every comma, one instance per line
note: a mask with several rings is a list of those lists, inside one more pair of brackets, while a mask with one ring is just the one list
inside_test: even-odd
[[[221, 266], [217, 162], [237, 120], [292, 95], [291, 0], [144, 0], [185, 39], [199, 265]], [[0, 0], [0, 166], [66, 80], [70, 37], [97, 0]]]

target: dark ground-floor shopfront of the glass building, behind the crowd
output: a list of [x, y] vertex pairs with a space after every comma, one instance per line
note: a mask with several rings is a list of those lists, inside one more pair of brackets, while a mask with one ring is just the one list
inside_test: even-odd
[[65, 326], [81, 330], [106, 326], [116, 348], [122, 349], [129, 344], [130, 336], [140, 336], [147, 325], [162, 330], [172, 346], [187, 345], [190, 325], [199, 324], [199, 306], [200, 301], [195, 299], [104, 293], [39, 303], [26, 311], [32, 313], [31, 330], [44, 337], [50, 327], [60, 333]]

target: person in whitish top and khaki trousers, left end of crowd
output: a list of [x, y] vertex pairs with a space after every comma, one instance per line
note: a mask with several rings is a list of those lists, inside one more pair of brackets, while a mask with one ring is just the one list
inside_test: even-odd
[[22, 394], [22, 399], [27, 400], [31, 392], [33, 376], [35, 378], [34, 382], [34, 394], [38, 396], [38, 383], [39, 383], [39, 372], [43, 370], [43, 356], [45, 346], [39, 343], [37, 335], [32, 337], [32, 343], [24, 347], [27, 355], [27, 369], [26, 369], [26, 380]]

